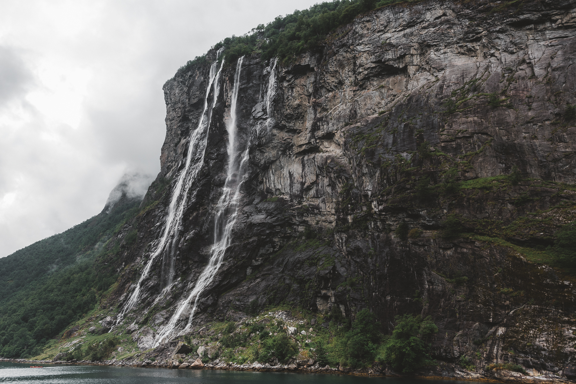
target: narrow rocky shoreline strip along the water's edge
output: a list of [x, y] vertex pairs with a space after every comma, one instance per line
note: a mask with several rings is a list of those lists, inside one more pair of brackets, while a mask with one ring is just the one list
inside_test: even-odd
[[[574, 383], [569, 379], [559, 377], [557, 375], [541, 375], [539, 377], [527, 376], [518, 374], [518, 372], [506, 371], [505, 374], [495, 378], [486, 377], [485, 375], [475, 372], [469, 372], [470, 376], [457, 375], [445, 376], [434, 374], [423, 375], [398, 375], [392, 372], [382, 372], [374, 368], [366, 368], [365, 370], [353, 370], [352, 368], [316, 368], [316, 367], [295, 367], [289, 368], [287, 366], [270, 366], [269, 364], [234, 364], [234, 363], [219, 363], [219, 364], [204, 364], [203, 366], [192, 367], [192, 364], [182, 363], [169, 365], [166, 363], [154, 364], [154, 362], [135, 363], [119, 363], [118, 360], [104, 360], [103, 362], [92, 362], [90, 360], [80, 361], [66, 361], [66, 360], [28, 360], [28, 359], [7, 359], [0, 358], [0, 362], [19, 363], [19, 364], [54, 364], [54, 365], [85, 365], [85, 366], [116, 366], [116, 367], [134, 367], [134, 368], [168, 368], [168, 369], [188, 369], [188, 370], [213, 370], [213, 371], [248, 371], [248, 372], [291, 372], [301, 374], [338, 374], [338, 375], [353, 375], [353, 376], [366, 376], [366, 377], [393, 377], [393, 378], [413, 378], [424, 380], [454, 380], [454, 381], [471, 381], [471, 382], [490, 382], [490, 383]], [[510, 373], [509, 373], [510, 372]], [[432, 372], [430, 372], [432, 373]]]

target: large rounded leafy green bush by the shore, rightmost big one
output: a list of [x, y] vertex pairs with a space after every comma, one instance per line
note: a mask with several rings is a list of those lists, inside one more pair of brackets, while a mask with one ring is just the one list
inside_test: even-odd
[[430, 316], [405, 314], [396, 316], [392, 336], [385, 341], [378, 353], [378, 360], [395, 370], [410, 373], [429, 360], [430, 341], [438, 327]]

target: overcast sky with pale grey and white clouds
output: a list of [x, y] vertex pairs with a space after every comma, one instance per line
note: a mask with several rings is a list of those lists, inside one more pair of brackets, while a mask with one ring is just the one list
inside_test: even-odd
[[124, 173], [156, 177], [164, 82], [314, 2], [3, 0], [0, 257], [100, 212]]

